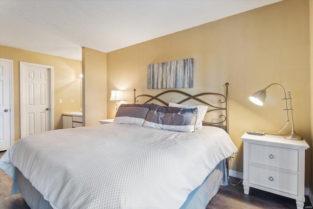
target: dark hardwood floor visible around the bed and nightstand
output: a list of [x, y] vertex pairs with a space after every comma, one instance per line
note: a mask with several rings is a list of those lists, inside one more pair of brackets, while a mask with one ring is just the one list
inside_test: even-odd
[[[0, 157], [4, 152], [0, 152]], [[235, 184], [240, 179], [230, 177]], [[29, 209], [21, 194], [10, 195], [12, 180], [0, 169], [0, 209]], [[308, 196], [304, 209], [312, 209]], [[221, 186], [206, 209], [296, 209], [295, 200], [269, 192], [250, 188], [245, 195], [242, 183], [237, 186]]]

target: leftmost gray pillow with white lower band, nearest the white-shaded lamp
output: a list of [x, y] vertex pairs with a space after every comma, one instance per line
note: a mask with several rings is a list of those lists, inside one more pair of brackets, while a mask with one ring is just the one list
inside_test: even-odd
[[113, 123], [143, 125], [150, 104], [121, 104]]

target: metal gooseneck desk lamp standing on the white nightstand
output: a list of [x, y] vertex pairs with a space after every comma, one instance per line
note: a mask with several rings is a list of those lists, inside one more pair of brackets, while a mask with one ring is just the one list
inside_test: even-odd
[[[280, 84], [277, 84], [277, 83], [272, 83], [270, 85], [268, 85], [268, 87], [272, 86], [272, 85], [278, 85], [281, 87], [281, 89], [283, 90], [284, 92], [284, 98], [283, 100], [285, 101], [285, 109], [284, 111], [286, 112], [286, 117], [287, 117], [287, 121], [289, 121], [289, 116], [288, 116], [288, 112], [290, 112], [291, 114], [291, 134], [289, 135], [286, 135], [284, 136], [285, 139], [291, 139], [291, 140], [303, 140], [303, 137], [297, 135], [294, 131], [294, 126], [293, 126], [293, 117], [292, 117], [292, 106], [291, 106], [291, 94], [290, 92], [288, 92], [288, 96], [289, 98], [286, 97], [286, 92], [285, 92], [285, 89], [280, 85]], [[266, 99], [266, 90], [268, 89], [268, 87], [266, 87], [265, 89], [262, 89], [256, 93], [253, 93], [249, 99], [257, 104], [257, 105], [260, 105], [262, 106], [265, 102], [265, 99]], [[288, 105], [287, 105], [287, 100], [289, 100], [289, 109], [288, 109]]]

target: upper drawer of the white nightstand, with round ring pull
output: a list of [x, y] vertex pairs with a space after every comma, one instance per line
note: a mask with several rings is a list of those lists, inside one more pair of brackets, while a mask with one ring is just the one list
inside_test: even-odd
[[298, 171], [298, 150], [249, 143], [248, 162]]

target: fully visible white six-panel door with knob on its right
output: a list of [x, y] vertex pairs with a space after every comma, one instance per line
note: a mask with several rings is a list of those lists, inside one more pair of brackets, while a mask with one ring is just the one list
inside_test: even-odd
[[21, 62], [21, 137], [51, 130], [49, 66]]

